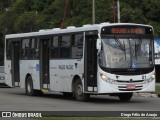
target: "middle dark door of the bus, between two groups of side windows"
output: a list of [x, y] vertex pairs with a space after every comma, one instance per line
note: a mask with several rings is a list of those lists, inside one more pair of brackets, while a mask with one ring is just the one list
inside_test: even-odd
[[40, 39], [40, 84], [41, 88], [48, 89], [49, 80], [49, 38]]

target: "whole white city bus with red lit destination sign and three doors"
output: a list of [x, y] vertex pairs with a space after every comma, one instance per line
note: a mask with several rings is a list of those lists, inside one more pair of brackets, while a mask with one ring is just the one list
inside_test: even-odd
[[6, 35], [5, 78], [27, 95], [62, 92], [78, 101], [108, 94], [129, 101], [155, 91], [153, 28], [101, 23]]

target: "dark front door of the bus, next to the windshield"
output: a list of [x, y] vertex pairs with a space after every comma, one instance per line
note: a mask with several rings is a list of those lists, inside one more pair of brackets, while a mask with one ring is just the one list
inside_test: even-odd
[[85, 36], [84, 90], [96, 92], [97, 87], [97, 35]]

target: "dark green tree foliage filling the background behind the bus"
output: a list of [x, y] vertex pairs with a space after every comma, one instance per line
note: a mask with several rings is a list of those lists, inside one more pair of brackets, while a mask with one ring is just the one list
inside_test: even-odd
[[[112, 0], [96, 1], [96, 23], [114, 22]], [[0, 0], [0, 65], [6, 34], [61, 27], [65, 0]], [[149, 24], [160, 36], [160, 0], [120, 0], [121, 22]], [[92, 0], [69, 0], [64, 26], [92, 24]]]

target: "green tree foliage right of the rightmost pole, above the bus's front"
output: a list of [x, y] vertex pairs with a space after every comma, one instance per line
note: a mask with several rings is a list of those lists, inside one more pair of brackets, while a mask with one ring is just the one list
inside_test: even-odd
[[160, 36], [159, 0], [122, 0], [122, 22], [149, 24], [154, 27], [155, 37]]

